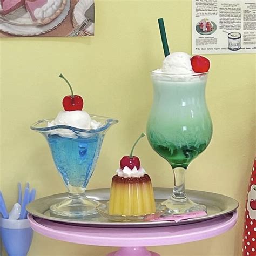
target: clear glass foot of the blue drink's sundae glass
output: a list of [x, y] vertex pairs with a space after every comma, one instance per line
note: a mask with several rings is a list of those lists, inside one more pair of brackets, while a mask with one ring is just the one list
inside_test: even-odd
[[71, 199], [67, 198], [60, 203], [50, 206], [52, 216], [58, 215], [65, 218], [80, 219], [98, 214], [96, 207], [100, 203], [88, 198]]

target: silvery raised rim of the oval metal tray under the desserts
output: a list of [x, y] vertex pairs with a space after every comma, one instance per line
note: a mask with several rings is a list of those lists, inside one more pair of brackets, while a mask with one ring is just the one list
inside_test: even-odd
[[[172, 191], [172, 188], [167, 188], [167, 187], [154, 187], [153, 188], [155, 192], [160, 192], [160, 191]], [[89, 193], [94, 193], [99, 194], [99, 193], [107, 193], [110, 191], [110, 188], [96, 188], [96, 189], [91, 189], [87, 190]], [[239, 207], [239, 202], [235, 200], [232, 197], [225, 196], [223, 194], [219, 193], [214, 193], [214, 192], [207, 192], [207, 191], [199, 191], [199, 190], [186, 190], [188, 193], [206, 193], [211, 196], [217, 196], [217, 197], [222, 197], [227, 200], [231, 200], [232, 203], [234, 204], [233, 207], [226, 208], [226, 210], [223, 210], [219, 213], [214, 213], [212, 215], [206, 215], [204, 217], [199, 217], [199, 218], [192, 218], [192, 219], [186, 219], [186, 220], [181, 220], [178, 223], [174, 223], [174, 221], [168, 221], [168, 220], [163, 220], [163, 221], [142, 221], [142, 222], [97, 222], [97, 221], [83, 221], [83, 220], [71, 220], [71, 219], [62, 219], [62, 218], [57, 218], [57, 217], [51, 217], [48, 215], [44, 215], [44, 213], [38, 212], [37, 209], [33, 208], [33, 206], [38, 203], [38, 201], [42, 200], [47, 200], [49, 198], [59, 198], [59, 197], [64, 197], [68, 195], [68, 193], [59, 193], [59, 194], [53, 194], [50, 196], [38, 198], [35, 201], [31, 202], [30, 204], [27, 205], [26, 210], [33, 216], [33, 217], [38, 217], [50, 221], [55, 221], [58, 223], [63, 223], [63, 224], [69, 224], [69, 225], [80, 225], [80, 226], [87, 226], [87, 227], [109, 227], [109, 228], [129, 228], [129, 227], [154, 227], [154, 226], [174, 226], [174, 225], [184, 225], [184, 224], [191, 224], [191, 223], [198, 223], [200, 221], [206, 221], [210, 220], [213, 218], [220, 217], [222, 215], [226, 215], [228, 213], [232, 213], [237, 208]], [[88, 196], [89, 198], [91, 196]], [[156, 198], [156, 197], [155, 197]], [[156, 198], [157, 199], [157, 198]], [[35, 203], [36, 202], [36, 203]], [[49, 210], [49, 209], [48, 209]], [[45, 210], [45, 211], [48, 211]], [[44, 212], [45, 212], [44, 211]]]

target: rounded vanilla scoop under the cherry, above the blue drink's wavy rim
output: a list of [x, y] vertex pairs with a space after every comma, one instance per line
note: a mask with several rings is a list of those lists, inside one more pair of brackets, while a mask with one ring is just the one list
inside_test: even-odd
[[51, 125], [69, 125], [79, 129], [91, 129], [91, 117], [85, 111], [60, 111]]

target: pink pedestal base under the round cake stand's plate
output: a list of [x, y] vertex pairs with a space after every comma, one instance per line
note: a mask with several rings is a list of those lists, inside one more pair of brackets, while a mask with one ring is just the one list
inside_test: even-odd
[[145, 247], [122, 247], [107, 256], [160, 256], [158, 253], [147, 251]]

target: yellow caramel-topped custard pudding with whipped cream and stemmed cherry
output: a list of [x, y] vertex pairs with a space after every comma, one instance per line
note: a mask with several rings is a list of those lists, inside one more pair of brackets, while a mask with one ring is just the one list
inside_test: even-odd
[[[140, 138], [144, 136], [143, 133]], [[150, 176], [140, 166], [139, 158], [132, 155], [132, 151], [130, 156], [121, 159], [117, 175], [112, 178], [110, 215], [142, 216], [156, 212]]]

